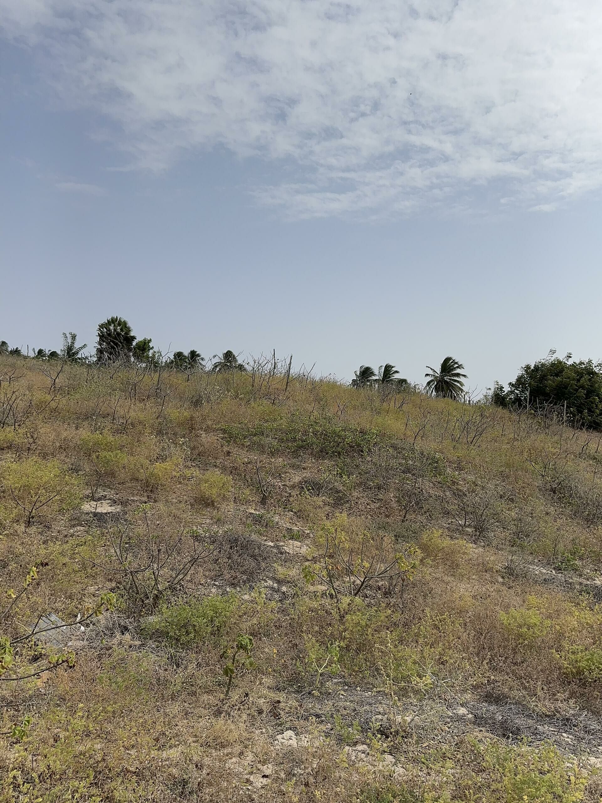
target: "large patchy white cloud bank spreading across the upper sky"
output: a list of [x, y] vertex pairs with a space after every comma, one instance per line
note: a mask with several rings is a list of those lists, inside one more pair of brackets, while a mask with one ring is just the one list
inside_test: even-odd
[[[598, 0], [0, 0], [161, 170], [221, 145], [293, 217], [550, 210], [602, 185]], [[483, 191], [483, 188], [485, 191]]]

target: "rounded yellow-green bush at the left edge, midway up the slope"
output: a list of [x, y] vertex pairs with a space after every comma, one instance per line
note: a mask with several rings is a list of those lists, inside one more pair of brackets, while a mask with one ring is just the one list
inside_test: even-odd
[[82, 500], [79, 478], [58, 460], [31, 457], [0, 467], [0, 483], [8, 503], [26, 524], [39, 516], [77, 507]]

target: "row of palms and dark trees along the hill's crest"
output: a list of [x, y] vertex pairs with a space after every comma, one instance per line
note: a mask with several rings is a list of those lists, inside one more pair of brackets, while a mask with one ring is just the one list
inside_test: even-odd
[[[214, 355], [209, 361], [197, 349], [188, 352], [174, 351], [164, 355], [153, 346], [150, 337], [137, 338], [128, 321], [112, 316], [96, 329], [96, 352], [85, 356], [87, 344], [77, 344], [75, 332], [63, 332], [63, 347], [60, 351], [34, 349], [22, 355], [22, 349], [10, 348], [6, 340], [0, 340], [0, 354], [27, 356], [35, 360], [63, 360], [71, 363], [92, 361], [96, 365], [112, 365], [116, 362], [148, 366], [149, 369], [174, 369], [186, 373], [211, 371], [214, 373], [246, 372], [250, 369], [231, 349]], [[275, 363], [274, 363], [275, 365]], [[400, 376], [390, 362], [380, 365], [375, 371], [370, 365], [360, 365], [351, 382], [358, 389], [387, 388], [392, 391], [420, 389], [433, 397], [455, 401], [470, 401], [464, 380], [467, 378], [464, 365], [454, 357], [445, 357], [435, 369], [426, 368], [424, 386], [412, 385]], [[275, 370], [275, 369], [274, 369]], [[288, 371], [290, 374], [291, 366]], [[554, 412], [571, 426], [602, 429], [602, 362], [593, 360], [573, 361], [569, 353], [563, 359], [551, 350], [543, 360], [533, 365], [523, 365], [515, 381], [506, 390], [499, 382], [488, 389], [481, 399], [506, 409], [532, 410], [539, 413]]]

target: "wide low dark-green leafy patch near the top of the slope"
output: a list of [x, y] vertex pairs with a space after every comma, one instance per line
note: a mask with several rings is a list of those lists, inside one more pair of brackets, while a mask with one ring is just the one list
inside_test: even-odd
[[353, 426], [338, 418], [307, 418], [298, 414], [283, 421], [225, 426], [222, 432], [230, 442], [270, 454], [306, 451], [319, 457], [365, 454], [378, 438], [376, 430]]

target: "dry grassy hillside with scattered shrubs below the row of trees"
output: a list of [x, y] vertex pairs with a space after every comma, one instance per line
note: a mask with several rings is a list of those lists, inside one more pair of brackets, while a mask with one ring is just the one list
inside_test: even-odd
[[599, 800], [601, 463], [409, 388], [2, 357], [0, 801]]

